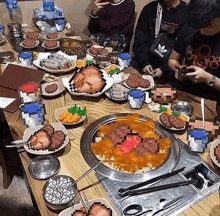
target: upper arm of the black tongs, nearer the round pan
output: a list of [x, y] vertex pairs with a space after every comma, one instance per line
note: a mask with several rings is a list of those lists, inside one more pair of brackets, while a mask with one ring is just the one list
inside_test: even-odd
[[184, 169], [185, 169], [185, 167], [183, 167], [183, 168], [181, 168], [181, 169], [178, 169], [178, 170], [175, 170], [175, 171], [170, 172], [170, 173], [166, 173], [166, 174], [164, 174], [164, 175], [157, 176], [157, 177], [152, 178], [152, 179], [150, 179], [150, 180], [147, 180], [147, 181], [145, 181], [145, 182], [141, 182], [141, 183], [139, 183], [139, 184], [132, 185], [132, 186], [130, 186], [130, 187], [128, 187], [128, 188], [120, 188], [120, 189], [118, 190], [119, 196], [121, 196], [121, 194], [125, 193], [126, 191], [134, 190], [134, 189], [143, 187], [143, 186], [145, 186], [145, 185], [154, 183], [154, 182], [156, 182], [156, 181], [159, 181], [159, 180], [166, 179], [166, 178], [169, 178], [169, 177], [171, 177], [171, 176], [174, 176], [174, 175], [176, 175], [177, 173], [182, 172]]

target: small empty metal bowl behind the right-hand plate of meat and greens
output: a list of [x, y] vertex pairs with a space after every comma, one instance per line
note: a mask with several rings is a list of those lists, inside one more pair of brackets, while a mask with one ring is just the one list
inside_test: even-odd
[[186, 101], [178, 101], [171, 105], [171, 109], [175, 112], [183, 113], [185, 115], [192, 115], [194, 107]]

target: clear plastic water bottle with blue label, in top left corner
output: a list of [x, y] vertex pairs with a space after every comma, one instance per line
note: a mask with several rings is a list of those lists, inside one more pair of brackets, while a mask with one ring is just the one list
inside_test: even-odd
[[22, 11], [17, 0], [5, 0], [11, 22], [23, 23]]

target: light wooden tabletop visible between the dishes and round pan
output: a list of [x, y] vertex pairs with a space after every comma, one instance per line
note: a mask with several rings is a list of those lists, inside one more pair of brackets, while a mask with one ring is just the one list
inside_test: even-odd
[[[0, 46], [0, 52], [2, 51], [13, 51], [15, 52], [9, 43]], [[18, 53], [15, 52], [15, 56], [17, 58]], [[6, 65], [1, 64], [1, 73], [4, 72]], [[122, 73], [130, 74], [130, 73], [138, 73], [134, 68], [129, 67], [125, 69]], [[69, 73], [71, 74], [71, 72]], [[65, 74], [61, 74], [59, 76], [64, 76]], [[194, 115], [196, 118], [201, 118], [201, 108], [200, 108], [200, 98], [188, 95], [182, 92], [178, 92], [177, 94], [178, 100], [189, 101], [194, 106]], [[97, 119], [104, 117], [106, 115], [114, 114], [114, 113], [139, 113], [140, 115], [149, 117], [153, 120], [157, 120], [159, 113], [152, 112], [148, 104], [144, 104], [141, 109], [131, 109], [127, 102], [116, 103], [112, 101], [105, 94], [93, 98], [93, 97], [78, 97], [71, 96], [68, 91], [65, 94], [60, 95], [59, 97], [53, 98], [43, 98], [42, 102], [45, 104], [46, 108], [46, 120], [45, 123], [53, 123], [56, 122], [54, 112], [56, 109], [61, 107], [68, 107], [77, 104], [81, 107], [86, 107], [87, 110], [87, 118], [86, 120], [76, 126], [68, 126], [66, 127], [68, 131], [68, 136], [70, 137], [69, 144], [59, 152], [54, 153], [53, 155], [57, 157], [61, 164], [61, 169], [59, 171], [59, 175], [69, 175], [73, 179], [78, 179], [81, 175], [83, 175], [90, 167], [84, 160], [81, 151], [80, 151], [80, 139], [84, 132], [84, 130]], [[205, 100], [205, 116], [206, 120], [213, 121], [214, 113], [215, 113], [215, 102]], [[11, 128], [13, 136], [15, 139], [22, 139], [23, 133], [26, 129], [26, 126], [21, 118], [20, 111], [17, 110], [13, 113], [5, 112], [5, 116], [7, 118], [8, 124]], [[174, 134], [177, 138], [180, 138], [187, 145], [187, 132]], [[36, 155], [31, 155], [27, 153], [23, 149], [18, 149], [20, 159], [22, 162], [22, 166], [24, 168], [24, 174], [26, 181], [29, 185], [31, 193], [37, 203], [40, 214], [42, 216], [52, 216], [58, 215], [59, 212], [53, 211], [49, 209], [42, 196], [42, 189], [45, 184], [45, 180], [37, 180], [31, 177], [30, 172], [28, 170], [29, 163]], [[206, 150], [205, 153], [200, 154], [200, 156], [211, 166], [213, 166], [209, 152]], [[219, 173], [220, 174], [220, 173]], [[89, 175], [84, 177], [81, 181], [77, 183], [78, 189], [80, 191], [84, 191], [86, 197], [91, 200], [95, 198], [104, 198], [109, 201], [112, 206], [111, 199], [109, 198], [106, 190], [102, 187], [101, 183], [97, 179], [94, 172], [91, 172]], [[117, 209], [115, 209], [117, 211]], [[120, 213], [118, 212], [118, 215]], [[188, 208], [186, 211], [180, 214], [181, 216], [218, 216], [220, 215], [220, 198], [217, 192], [213, 193], [211, 196], [203, 199], [198, 204], [193, 205]]]

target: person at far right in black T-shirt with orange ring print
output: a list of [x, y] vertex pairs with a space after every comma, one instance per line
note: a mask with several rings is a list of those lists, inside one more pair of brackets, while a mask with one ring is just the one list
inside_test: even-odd
[[168, 65], [175, 88], [217, 101], [220, 114], [220, 0], [190, 1]]

